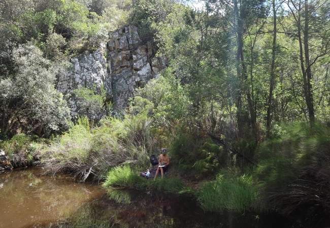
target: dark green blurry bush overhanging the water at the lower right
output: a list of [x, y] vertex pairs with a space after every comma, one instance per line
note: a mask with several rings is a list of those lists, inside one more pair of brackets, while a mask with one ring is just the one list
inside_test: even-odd
[[[329, 206], [330, 128], [321, 123], [277, 126], [273, 138], [258, 148], [263, 207], [291, 213], [300, 207]], [[317, 196], [317, 197], [315, 197]], [[311, 209], [305, 213], [314, 213]]]

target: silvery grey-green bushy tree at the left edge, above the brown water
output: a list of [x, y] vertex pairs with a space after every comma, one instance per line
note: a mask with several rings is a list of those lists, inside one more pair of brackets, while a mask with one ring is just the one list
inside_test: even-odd
[[49, 136], [68, 128], [69, 108], [54, 88], [58, 65], [31, 44], [13, 52], [17, 73], [0, 81], [0, 117], [5, 134], [22, 129]]

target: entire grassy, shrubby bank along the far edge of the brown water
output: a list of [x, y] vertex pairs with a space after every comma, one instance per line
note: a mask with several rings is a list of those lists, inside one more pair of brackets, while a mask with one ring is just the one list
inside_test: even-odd
[[[207, 211], [328, 215], [330, 167], [324, 161], [329, 159], [329, 127], [282, 126], [256, 149], [257, 166], [244, 164], [244, 159], [210, 138], [180, 133], [169, 147], [170, 175], [152, 182], [139, 175], [151, 167], [150, 148], [157, 148], [148, 123], [141, 116], [110, 118], [91, 128], [87, 119], [80, 119], [49, 144], [17, 135], [2, 145], [13, 161], [29, 161], [16, 165], [41, 163], [49, 174], [70, 173], [81, 181], [104, 182], [105, 188], [192, 193]], [[142, 136], [144, 147], [138, 140]]]

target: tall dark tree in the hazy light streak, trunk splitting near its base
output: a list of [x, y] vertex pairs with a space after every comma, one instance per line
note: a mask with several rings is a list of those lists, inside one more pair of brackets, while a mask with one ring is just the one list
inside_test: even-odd
[[[239, 80], [238, 98], [237, 98], [237, 122], [239, 131], [242, 134], [245, 123], [247, 122], [244, 115], [243, 108], [243, 94], [246, 94], [247, 106], [250, 113], [250, 124], [255, 128], [256, 124], [256, 110], [253, 99], [253, 79], [248, 82], [247, 61], [244, 51], [244, 36], [249, 30], [250, 26], [255, 25], [259, 18], [265, 18], [267, 15], [267, 8], [265, 7], [265, 1], [240, 1], [234, 0], [233, 5], [228, 5], [225, 1], [207, 1], [207, 6], [219, 17], [228, 15], [232, 21], [233, 35], [236, 39], [236, 73]], [[252, 53], [251, 53], [252, 55]], [[252, 65], [251, 65], [252, 67]], [[251, 75], [252, 77], [252, 75]], [[250, 89], [251, 88], [251, 89]], [[256, 133], [256, 132], [255, 132]]]

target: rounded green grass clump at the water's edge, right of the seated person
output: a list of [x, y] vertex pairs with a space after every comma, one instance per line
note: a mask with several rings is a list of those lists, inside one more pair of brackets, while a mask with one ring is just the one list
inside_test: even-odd
[[204, 184], [197, 193], [204, 210], [244, 212], [254, 207], [257, 189], [252, 176], [221, 171], [215, 181]]

